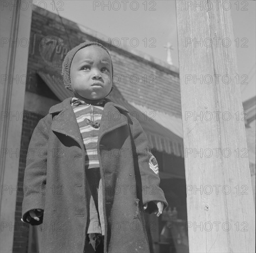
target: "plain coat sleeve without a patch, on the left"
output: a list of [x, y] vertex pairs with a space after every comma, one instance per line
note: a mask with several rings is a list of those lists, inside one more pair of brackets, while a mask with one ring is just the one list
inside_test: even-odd
[[29, 210], [44, 210], [45, 205], [48, 144], [46, 117], [39, 121], [32, 134], [24, 173], [22, 220], [31, 225], [39, 225], [43, 221], [43, 216], [39, 221], [31, 219], [30, 222], [27, 221], [27, 217]]

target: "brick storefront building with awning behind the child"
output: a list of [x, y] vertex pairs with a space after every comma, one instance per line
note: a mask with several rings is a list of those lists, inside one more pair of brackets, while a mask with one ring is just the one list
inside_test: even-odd
[[[98, 41], [108, 47], [113, 61], [116, 87], [111, 99], [119, 99], [121, 103], [126, 101], [125, 105], [130, 111], [140, 115], [140, 119], [143, 117], [141, 125], [145, 128], [161, 168], [162, 188], [165, 189], [171, 207], [177, 207], [179, 218], [186, 220], [183, 143], [180, 136], [170, 131], [172, 124], [176, 125], [176, 129], [182, 127], [177, 126], [177, 122], [181, 122], [178, 69], [137, 52], [134, 48], [112, 46], [103, 35], [95, 34], [67, 19], [63, 18], [62, 21], [65, 27], [60, 17], [54, 13], [39, 8], [32, 12], [26, 92], [21, 119], [23, 126], [13, 242], [13, 252], [17, 253], [37, 252], [36, 234], [40, 234], [39, 229], [32, 230], [20, 221], [23, 190], [27, 187], [23, 186], [23, 176], [29, 140], [36, 124], [47, 114], [49, 108], [58, 104], [62, 98], [69, 97], [69, 91], [64, 88], [60, 75], [61, 63], [70, 47], [83, 41]], [[145, 110], [140, 112], [136, 105], [144, 106]], [[164, 113], [177, 119], [177, 122], [169, 122], [167, 128], [164, 124], [161, 125], [161, 122], [155, 122], [153, 118], [153, 122], [150, 122], [152, 112], [153, 116], [157, 112]], [[155, 131], [151, 131], [150, 128], [154, 128]], [[157, 243], [165, 222], [152, 216], [148, 219], [157, 224], [151, 231], [151, 247], [157, 252]]]

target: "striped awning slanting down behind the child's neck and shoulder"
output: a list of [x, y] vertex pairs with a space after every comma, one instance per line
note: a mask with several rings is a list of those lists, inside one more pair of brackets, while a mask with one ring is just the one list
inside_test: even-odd
[[[65, 88], [62, 80], [57, 80], [54, 78], [54, 76], [45, 74], [42, 71], [37, 71], [37, 73], [60, 101], [73, 96], [73, 93]], [[184, 157], [182, 138], [169, 131], [169, 129], [161, 126], [156, 121], [150, 119], [148, 115], [143, 114], [133, 105], [129, 104], [123, 98], [121, 92], [119, 92], [116, 86], [114, 86], [114, 90], [108, 97], [113, 102], [124, 106], [126, 109], [128, 109], [129, 113], [133, 115], [133, 117], [136, 117], [139, 120], [140, 125], [147, 135], [153, 149], [157, 150], [158, 152], [165, 152]]]

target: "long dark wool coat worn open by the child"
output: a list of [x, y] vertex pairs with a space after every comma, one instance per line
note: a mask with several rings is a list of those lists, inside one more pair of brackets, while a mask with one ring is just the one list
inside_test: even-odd
[[[35, 127], [24, 175], [23, 221], [41, 208], [41, 252], [83, 253], [89, 221], [85, 148], [70, 104], [51, 107]], [[142, 205], [162, 201], [159, 176], [139, 122], [127, 109], [107, 100], [99, 128], [99, 165], [103, 181], [105, 253], [148, 253]], [[153, 163], [154, 165], [154, 163]], [[148, 212], [157, 209], [153, 202]]]

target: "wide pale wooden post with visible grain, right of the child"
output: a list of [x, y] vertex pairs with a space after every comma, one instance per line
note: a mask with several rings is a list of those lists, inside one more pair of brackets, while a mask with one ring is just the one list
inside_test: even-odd
[[237, 71], [228, 3], [176, 1], [187, 229], [196, 253], [255, 252], [244, 73]]

